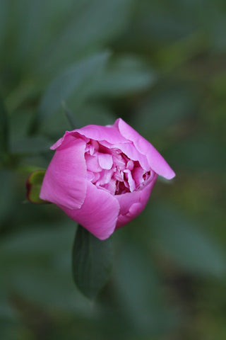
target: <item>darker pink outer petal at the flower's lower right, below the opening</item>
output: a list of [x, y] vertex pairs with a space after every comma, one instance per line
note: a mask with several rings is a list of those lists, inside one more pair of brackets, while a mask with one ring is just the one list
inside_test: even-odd
[[117, 228], [123, 227], [143, 211], [156, 180], [157, 174], [154, 174], [152, 181], [143, 189], [115, 196], [120, 205]]

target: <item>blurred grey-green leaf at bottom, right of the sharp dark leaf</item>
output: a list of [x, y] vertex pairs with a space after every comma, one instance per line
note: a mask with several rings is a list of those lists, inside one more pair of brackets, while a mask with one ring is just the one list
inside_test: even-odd
[[162, 286], [151, 255], [127, 244], [119, 253], [114, 278], [123, 314], [138, 334], [164, 334], [176, 315], [162, 300]]

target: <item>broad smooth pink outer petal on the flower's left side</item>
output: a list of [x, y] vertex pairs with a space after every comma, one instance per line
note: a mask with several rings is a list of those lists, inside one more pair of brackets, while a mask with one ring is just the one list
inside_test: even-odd
[[[62, 139], [61, 139], [62, 140]], [[85, 200], [85, 141], [68, 135], [50, 162], [40, 192], [42, 200], [79, 209]]]

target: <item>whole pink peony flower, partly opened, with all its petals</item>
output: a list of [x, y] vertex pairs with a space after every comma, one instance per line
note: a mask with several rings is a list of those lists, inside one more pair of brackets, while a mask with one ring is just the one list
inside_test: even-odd
[[40, 192], [99, 239], [145, 208], [157, 175], [175, 174], [147, 140], [121, 118], [114, 125], [66, 131]]

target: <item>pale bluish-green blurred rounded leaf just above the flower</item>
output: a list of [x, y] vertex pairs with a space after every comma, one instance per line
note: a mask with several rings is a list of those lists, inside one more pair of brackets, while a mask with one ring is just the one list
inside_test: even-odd
[[97, 94], [125, 96], [144, 91], [156, 81], [155, 72], [138, 57], [127, 55], [114, 60], [97, 84]]

